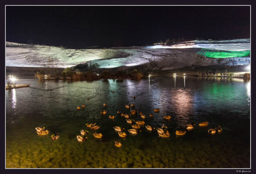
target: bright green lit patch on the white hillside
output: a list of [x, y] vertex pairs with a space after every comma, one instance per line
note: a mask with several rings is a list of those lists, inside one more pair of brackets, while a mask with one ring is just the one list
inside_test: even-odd
[[250, 57], [250, 50], [246, 51], [221, 51], [214, 52], [209, 50], [200, 50], [197, 52], [199, 55], [204, 55], [209, 58], [230, 58], [230, 57]]

